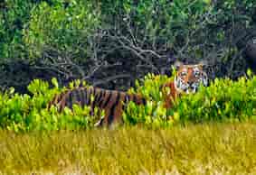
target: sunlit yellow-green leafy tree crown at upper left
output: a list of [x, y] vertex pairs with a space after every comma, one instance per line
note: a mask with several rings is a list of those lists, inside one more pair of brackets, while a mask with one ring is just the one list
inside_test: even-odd
[[31, 11], [29, 27], [24, 30], [24, 43], [31, 59], [41, 56], [44, 50], [52, 49], [70, 55], [87, 57], [87, 37], [99, 26], [100, 13], [90, 1], [71, 1], [64, 5], [56, 1], [46, 2]]

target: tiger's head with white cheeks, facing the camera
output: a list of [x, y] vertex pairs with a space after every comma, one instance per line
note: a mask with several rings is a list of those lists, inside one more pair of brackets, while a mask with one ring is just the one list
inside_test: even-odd
[[201, 83], [207, 87], [208, 78], [203, 67], [203, 63], [185, 65], [182, 62], [175, 62], [177, 72], [174, 84], [177, 92], [195, 93]]

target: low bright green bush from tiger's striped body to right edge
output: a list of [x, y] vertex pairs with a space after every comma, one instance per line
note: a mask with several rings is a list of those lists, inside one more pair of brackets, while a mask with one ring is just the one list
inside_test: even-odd
[[130, 103], [123, 115], [126, 124], [165, 127], [187, 122], [256, 119], [256, 76], [252, 76], [250, 71], [248, 78], [242, 77], [237, 81], [216, 78], [209, 87], [201, 87], [195, 94], [178, 98], [170, 109], [164, 107], [162, 84], [159, 77], [154, 75], [147, 76], [141, 85], [137, 84], [137, 91], [132, 91], [144, 94], [148, 99], [147, 105]]

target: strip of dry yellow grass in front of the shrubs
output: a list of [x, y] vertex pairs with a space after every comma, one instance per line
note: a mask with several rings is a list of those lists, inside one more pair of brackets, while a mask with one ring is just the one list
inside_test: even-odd
[[0, 131], [0, 174], [256, 174], [256, 124]]

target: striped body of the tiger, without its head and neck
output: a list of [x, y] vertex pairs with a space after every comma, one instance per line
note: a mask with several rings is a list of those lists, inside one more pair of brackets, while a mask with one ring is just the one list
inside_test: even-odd
[[[91, 96], [94, 98], [93, 100], [91, 100]], [[89, 87], [66, 90], [55, 96], [48, 107], [57, 105], [59, 111], [62, 111], [65, 106], [72, 108], [73, 104], [77, 104], [79, 106], [90, 106], [92, 111], [97, 106], [104, 110], [105, 116], [96, 125], [110, 125], [116, 122], [122, 123], [122, 112], [129, 101], [133, 101], [137, 105], [146, 105], [146, 99], [139, 95]]]

